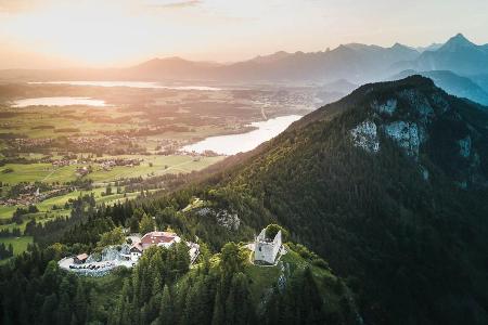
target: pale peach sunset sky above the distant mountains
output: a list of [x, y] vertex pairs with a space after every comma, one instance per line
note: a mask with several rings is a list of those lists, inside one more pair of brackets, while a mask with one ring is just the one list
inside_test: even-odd
[[486, 0], [0, 0], [0, 68], [235, 62], [341, 43], [488, 43]]

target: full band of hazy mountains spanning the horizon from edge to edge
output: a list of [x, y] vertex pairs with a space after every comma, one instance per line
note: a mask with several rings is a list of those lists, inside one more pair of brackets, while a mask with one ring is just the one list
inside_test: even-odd
[[[431, 74], [436, 70], [439, 73]], [[440, 87], [447, 87], [450, 93], [487, 103], [488, 44], [475, 44], [461, 34], [444, 44], [416, 49], [400, 43], [390, 48], [349, 43], [321, 52], [281, 51], [231, 64], [167, 57], [118, 69], [0, 70], [0, 80], [117, 79], [280, 84], [325, 84], [347, 80], [362, 84], [411, 75], [411, 72], [422, 72], [424, 76], [431, 74], [429, 77]], [[342, 93], [349, 90], [344, 89]]]

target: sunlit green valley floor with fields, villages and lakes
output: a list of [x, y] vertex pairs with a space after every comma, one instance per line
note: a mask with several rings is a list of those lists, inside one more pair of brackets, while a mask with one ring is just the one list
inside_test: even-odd
[[[168, 180], [277, 135], [320, 103], [316, 93], [127, 81], [0, 84], [2, 238], [22, 242], [28, 222], [69, 218], [84, 195], [112, 205], [167, 191]], [[296, 117], [272, 127], [282, 116]], [[235, 140], [198, 145], [218, 136]], [[15, 255], [26, 247], [17, 245]]]

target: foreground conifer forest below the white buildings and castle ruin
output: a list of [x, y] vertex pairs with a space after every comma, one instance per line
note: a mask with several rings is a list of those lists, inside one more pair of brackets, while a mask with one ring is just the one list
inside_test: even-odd
[[[92, 281], [59, 269], [63, 245], [29, 246], [0, 269], [2, 324], [354, 324], [346, 298], [331, 312], [309, 268], [253, 300], [247, 253], [229, 243], [190, 270], [185, 244], [152, 247], [132, 271]], [[105, 287], [103, 283], [111, 283]], [[333, 304], [333, 303], [332, 303]]]

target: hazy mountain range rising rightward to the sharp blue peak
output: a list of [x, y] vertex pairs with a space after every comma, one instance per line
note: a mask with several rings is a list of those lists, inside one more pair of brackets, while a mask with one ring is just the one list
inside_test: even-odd
[[323, 52], [277, 52], [233, 64], [215, 64], [171, 57], [152, 60], [125, 69], [151, 79], [203, 79], [224, 82], [333, 82], [361, 84], [383, 80], [402, 70], [450, 70], [462, 77], [488, 74], [488, 44], [477, 46], [459, 34], [444, 44], [413, 49], [360, 43], [342, 44]]

